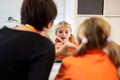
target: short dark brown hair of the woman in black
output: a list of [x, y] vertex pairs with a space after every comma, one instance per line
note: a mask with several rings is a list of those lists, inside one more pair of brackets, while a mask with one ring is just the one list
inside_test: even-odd
[[57, 15], [53, 0], [24, 0], [21, 7], [21, 24], [29, 24], [39, 31], [53, 22]]

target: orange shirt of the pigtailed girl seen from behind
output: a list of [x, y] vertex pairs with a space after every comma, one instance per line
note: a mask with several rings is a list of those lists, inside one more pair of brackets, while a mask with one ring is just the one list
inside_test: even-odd
[[62, 60], [55, 80], [119, 80], [117, 69], [102, 50]]

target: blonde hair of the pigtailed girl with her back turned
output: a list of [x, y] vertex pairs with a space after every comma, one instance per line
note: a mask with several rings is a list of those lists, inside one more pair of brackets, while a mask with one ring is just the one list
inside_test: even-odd
[[[107, 38], [110, 36], [109, 23], [100, 17], [91, 17], [86, 19], [78, 28], [77, 39], [80, 43], [78, 55], [84, 54], [86, 50], [103, 49], [107, 44]], [[87, 42], [83, 43], [82, 39]]]

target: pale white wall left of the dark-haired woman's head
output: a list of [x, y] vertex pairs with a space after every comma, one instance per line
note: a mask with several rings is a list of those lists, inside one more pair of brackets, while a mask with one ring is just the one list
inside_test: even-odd
[[0, 26], [8, 25], [12, 27], [18, 24], [16, 22], [7, 22], [7, 19], [12, 16], [14, 19], [20, 21], [21, 3], [22, 0], [0, 0]]

